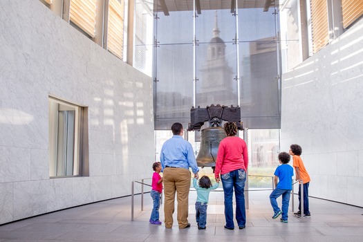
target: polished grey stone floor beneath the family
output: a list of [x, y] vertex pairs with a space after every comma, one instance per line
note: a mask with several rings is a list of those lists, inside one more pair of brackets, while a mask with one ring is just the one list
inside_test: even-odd
[[[198, 230], [195, 222], [195, 192], [189, 196], [189, 222], [192, 227], [179, 230], [174, 226], [149, 224], [152, 201], [144, 195], [134, 199], [131, 221], [131, 196], [93, 203], [68, 210], [44, 214], [15, 223], [0, 225], [0, 242], [64, 241], [363, 241], [363, 209], [310, 198], [311, 218], [297, 218], [289, 210], [288, 223], [273, 220], [268, 195], [270, 191], [249, 193], [247, 225], [244, 230], [226, 230], [223, 215], [223, 192], [210, 194], [207, 229]], [[281, 203], [281, 198], [279, 199]], [[297, 196], [295, 195], [295, 212]], [[162, 221], [163, 208], [160, 207]], [[175, 215], [175, 214], [174, 214]]]

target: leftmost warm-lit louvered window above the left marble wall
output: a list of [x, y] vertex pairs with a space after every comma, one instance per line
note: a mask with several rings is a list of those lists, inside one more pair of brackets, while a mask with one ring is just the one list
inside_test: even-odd
[[96, 0], [71, 0], [69, 17], [91, 37], [95, 37]]

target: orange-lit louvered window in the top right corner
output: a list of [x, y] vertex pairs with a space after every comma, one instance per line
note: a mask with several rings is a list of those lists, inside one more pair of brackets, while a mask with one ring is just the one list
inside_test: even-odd
[[363, 1], [342, 0], [343, 27], [348, 28], [363, 15]]

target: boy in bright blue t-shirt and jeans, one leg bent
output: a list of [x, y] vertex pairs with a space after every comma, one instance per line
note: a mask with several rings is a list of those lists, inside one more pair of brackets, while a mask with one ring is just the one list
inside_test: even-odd
[[[270, 203], [274, 210], [274, 216], [277, 218], [282, 213], [280, 221], [282, 223], [288, 223], [288, 203], [290, 201], [290, 193], [292, 189], [292, 176], [294, 176], [294, 169], [288, 165], [290, 161], [290, 155], [286, 152], [279, 153], [279, 165], [274, 171], [274, 186], [276, 187], [270, 194]], [[279, 183], [277, 183], [279, 179]], [[276, 198], [282, 196], [282, 212], [277, 205]]]

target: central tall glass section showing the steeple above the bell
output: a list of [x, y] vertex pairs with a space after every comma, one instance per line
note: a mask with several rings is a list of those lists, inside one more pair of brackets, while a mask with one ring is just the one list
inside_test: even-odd
[[237, 106], [236, 17], [230, 10], [201, 10], [196, 18], [196, 106]]

